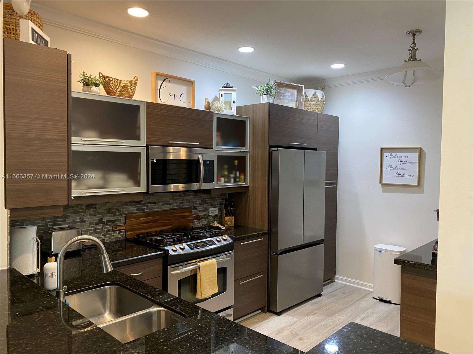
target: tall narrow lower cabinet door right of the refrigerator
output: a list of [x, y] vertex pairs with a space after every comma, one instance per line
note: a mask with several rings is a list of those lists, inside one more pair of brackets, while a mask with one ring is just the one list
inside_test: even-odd
[[325, 185], [324, 281], [335, 277], [337, 253], [337, 185]]

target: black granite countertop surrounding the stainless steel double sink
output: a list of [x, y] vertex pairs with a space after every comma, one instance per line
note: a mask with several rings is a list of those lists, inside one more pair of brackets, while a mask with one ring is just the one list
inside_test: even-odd
[[[111, 244], [107, 246], [110, 247]], [[128, 257], [131, 253], [146, 258], [147, 256], [141, 253], [150, 251], [135, 246], [126, 243], [124, 249], [118, 248], [114, 251], [109, 248], [110, 258], [116, 262], [121, 256]], [[6, 339], [1, 343], [1, 353], [303, 353], [117, 270], [102, 273], [99, 258], [93, 250], [68, 255], [68, 259], [72, 260], [68, 265], [64, 264], [64, 275], [67, 278], [64, 283], [68, 292], [104, 283], [120, 284], [183, 315], [186, 319], [174, 326], [122, 344], [96, 326], [85, 331], [74, 328], [77, 322], [85, 322], [88, 325], [91, 325], [91, 322], [59, 302], [53, 295], [54, 291], [48, 292], [32, 281], [41, 277], [28, 278], [14, 269], [0, 270], [0, 338]], [[116, 264], [121, 263], [115, 263], [115, 266]], [[66, 323], [59, 318], [60, 305], [64, 306]]]

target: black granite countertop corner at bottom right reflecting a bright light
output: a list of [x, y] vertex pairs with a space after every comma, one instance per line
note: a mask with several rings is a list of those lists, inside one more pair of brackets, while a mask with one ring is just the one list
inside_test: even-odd
[[[439, 350], [350, 322], [307, 354], [442, 354]], [[444, 353], [445, 354], [445, 353]]]

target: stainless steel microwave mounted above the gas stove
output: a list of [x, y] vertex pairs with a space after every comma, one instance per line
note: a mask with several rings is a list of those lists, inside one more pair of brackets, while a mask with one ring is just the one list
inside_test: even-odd
[[212, 149], [149, 146], [148, 192], [215, 188], [215, 160]]

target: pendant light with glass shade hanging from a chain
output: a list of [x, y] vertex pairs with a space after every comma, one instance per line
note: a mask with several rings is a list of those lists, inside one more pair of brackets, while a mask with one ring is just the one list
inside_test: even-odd
[[388, 84], [411, 87], [412, 85], [427, 84], [429, 82], [438, 80], [442, 74], [440, 70], [430, 67], [416, 57], [415, 37], [420, 36], [422, 30], [412, 30], [406, 32], [406, 35], [412, 36], [411, 46], [409, 51], [409, 58], [404, 60], [404, 64], [400, 67], [394, 68], [386, 77]]

